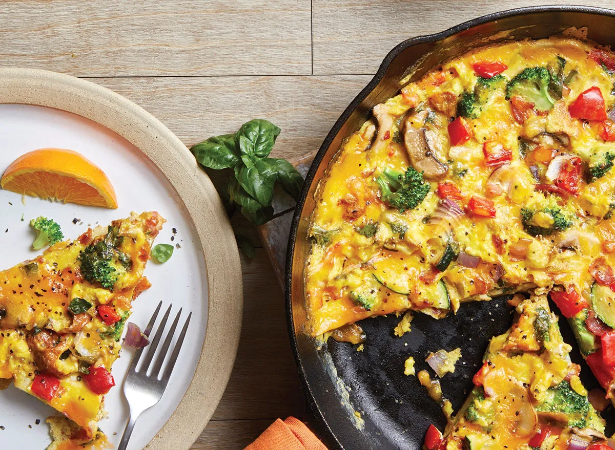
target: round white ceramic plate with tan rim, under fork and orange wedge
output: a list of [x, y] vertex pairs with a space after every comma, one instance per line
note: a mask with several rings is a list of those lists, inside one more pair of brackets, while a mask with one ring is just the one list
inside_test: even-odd
[[[3, 78], [3, 75], [8, 77]], [[23, 79], [26, 81], [22, 81], [20, 75], [25, 76]], [[170, 448], [169, 443], [177, 445], [173, 445], [173, 448], [188, 448], [220, 400], [234, 360], [240, 329], [241, 299], [237, 290], [227, 293], [228, 300], [221, 303], [212, 301], [213, 297], [224, 293], [221, 292], [221, 284], [217, 282], [220, 269], [217, 266], [210, 268], [212, 256], [215, 255], [208, 253], [204, 240], [207, 239], [207, 233], [217, 239], [216, 244], [211, 247], [218, 247], [219, 242], [228, 242], [229, 236], [232, 240], [230, 227], [226, 227], [228, 220], [225, 216], [219, 217], [219, 199], [205, 198], [210, 188], [210, 185], [207, 185], [208, 180], [194, 170], [196, 164], [191, 164], [191, 160], [186, 159], [187, 150], [181, 143], [178, 144], [177, 138], [164, 128], [164, 125], [119, 95], [73, 77], [44, 71], [20, 72], [20, 69], [4, 69], [3, 73], [0, 69], [0, 85], [3, 81], [8, 81], [9, 85], [17, 85], [15, 103], [48, 105], [51, 102], [53, 106], [68, 111], [87, 111], [76, 111], [83, 116], [98, 114], [105, 117], [105, 120], [99, 120], [100, 122], [107, 122], [110, 127], [117, 124], [119, 133], [133, 142], [141, 142], [142, 148], [138, 149], [97, 122], [58, 109], [31, 105], [0, 105], [0, 172], [3, 172], [12, 160], [34, 149], [73, 149], [105, 171], [115, 188], [119, 204], [117, 210], [107, 210], [32, 197], [22, 198], [22, 195], [14, 192], [0, 190], [0, 269], [9, 268], [38, 254], [31, 250], [34, 232], [28, 223], [39, 215], [53, 218], [62, 226], [66, 239], [74, 239], [88, 227], [98, 224], [106, 226], [113, 219], [129, 216], [130, 211], [141, 213], [156, 210], [161, 213], [167, 223], [155, 243], [172, 243], [180, 248], [175, 248], [167, 263], [149, 261], [145, 275], [153, 286], [133, 303], [130, 322], [145, 328], [160, 300], [164, 301], [165, 307], [173, 304], [171, 317], [182, 307], [182, 318], [185, 319], [188, 312], [192, 311], [192, 319], [167, 391], [156, 406], [138, 419], [129, 449], [140, 449], [148, 443], [151, 448]], [[34, 85], [28, 90], [30, 83]], [[36, 97], [36, 90], [39, 86], [46, 87], [46, 83], [55, 95], [43, 98], [40, 102], [36, 99], [22, 100], [22, 97], [30, 95]], [[60, 90], [66, 92], [62, 93]], [[88, 90], [92, 92], [87, 92]], [[3, 92], [12, 91], [9, 89]], [[76, 96], [77, 105], [74, 100], [69, 100], [69, 95]], [[47, 93], [42, 97], [47, 97]], [[67, 98], [66, 107], [62, 105], [63, 98]], [[90, 98], [91, 105], [88, 105]], [[58, 105], [55, 105], [55, 101], [59, 102]], [[12, 103], [10, 95], [8, 102], [0, 95], [0, 103]], [[115, 117], [107, 119], [109, 108], [118, 112]], [[137, 120], [135, 123], [138, 126], [123, 130], [122, 127], [127, 126], [130, 120]], [[148, 136], [148, 133], [151, 135]], [[171, 153], [165, 154], [169, 152], [169, 148]], [[177, 152], [177, 155], [172, 152]], [[151, 156], [151, 159], [146, 155]], [[170, 168], [164, 167], [161, 160], [164, 160], [164, 164], [169, 164]], [[173, 168], [173, 164], [188, 164], [192, 167]], [[188, 176], [183, 175], [185, 171], [189, 173]], [[190, 183], [194, 183], [194, 187]], [[178, 191], [183, 191], [183, 198]], [[189, 200], [186, 200], [188, 197]], [[195, 202], [199, 200], [207, 204], [195, 211]], [[186, 205], [192, 205], [190, 211]], [[202, 223], [204, 216], [207, 218], [211, 211], [215, 211], [215, 217], [207, 221], [207, 224]], [[73, 223], [74, 219], [79, 219], [77, 224]], [[208, 224], [218, 220], [221, 229], [214, 229], [213, 234], [212, 230], [207, 230]], [[173, 233], [173, 229], [177, 232]], [[236, 247], [223, 248], [223, 251], [224, 256], [217, 258], [220, 260], [220, 268], [226, 267], [226, 272], [230, 271], [231, 276], [237, 277], [239, 261]], [[231, 261], [230, 268], [226, 259]], [[210, 261], [209, 264], [207, 261]], [[212, 278], [214, 274], [215, 278]], [[241, 285], [240, 279], [237, 280], [237, 285]], [[232, 303], [225, 304], [227, 301]], [[220, 317], [220, 306], [228, 310], [223, 312], [226, 317]], [[227, 324], [226, 329], [220, 326], [221, 322], [229, 319], [234, 322], [232, 325]], [[226, 342], [220, 344], [223, 339]], [[222, 354], [216, 355], [216, 350]], [[123, 349], [121, 358], [113, 366], [116, 387], [106, 395], [105, 409], [109, 415], [100, 422], [101, 429], [114, 445], [119, 443], [129, 417], [122, 384], [132, 354], [132, 349]], [[194, 382], [191, 384], [193, 376]], [[212, 379], [215, 379], [215, 382], [208, 382]], [[45, 419], [59, 414], [54, 409], [20, 392], [12, 385], [0, 392], [0, 405], [0, 425], [3, 427], [0, 428], [0, 448], [17, 449], [26, 445], [31, 449], [44, 449], [49, 444], [50, 436]], [[38, 425], [36, 419], [40, 419]]]

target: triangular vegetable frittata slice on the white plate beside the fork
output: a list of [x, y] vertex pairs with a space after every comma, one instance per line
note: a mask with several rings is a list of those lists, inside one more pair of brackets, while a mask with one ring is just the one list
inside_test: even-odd
[[[88, 229], [0, 272], [0, 378], [98, 435], [111, 366], [165, 220], [156, 212]], [[73, 433], [74, 434], [74, 433]]]

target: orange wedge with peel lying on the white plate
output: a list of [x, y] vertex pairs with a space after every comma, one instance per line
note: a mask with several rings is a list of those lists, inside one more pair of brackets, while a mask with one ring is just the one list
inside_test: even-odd
[[0, 186], [41, 199], [117, 208], [116, 194], [105, 172], [73, 150], [41, 148], [28, 152], [9, 165]]

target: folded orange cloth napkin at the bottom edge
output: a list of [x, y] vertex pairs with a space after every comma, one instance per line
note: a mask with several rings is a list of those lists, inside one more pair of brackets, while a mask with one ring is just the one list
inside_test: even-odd
[[327, 450], [301, 420], [277, 419], [244, 450]]

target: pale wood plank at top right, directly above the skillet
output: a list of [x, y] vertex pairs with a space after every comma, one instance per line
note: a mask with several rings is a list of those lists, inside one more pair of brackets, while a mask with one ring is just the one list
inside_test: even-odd
[[[405, 39], [492, 12], [538, 4], [615, 8], [614, 0], [314, 0], [314, 74], [372, 74]], [[587, 24], [591, 25], [591, 24]]]

